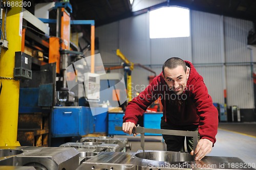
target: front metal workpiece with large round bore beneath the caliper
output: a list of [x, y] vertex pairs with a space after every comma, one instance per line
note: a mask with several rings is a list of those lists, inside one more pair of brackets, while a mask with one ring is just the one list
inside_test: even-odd
[[[237, 166], [238, 165], [238, 166]], [[241, 166], [239, 166], [241, 165]], [[165, 170], [165, 169], [253, 169], [236, 157], [205, 156], [195, 161], [189, 153], [168, 151], [146, 151], [137, 153], [101, 152], [84, 161], [76, 170], [84, 169], [129, 169], [129, 170]]]

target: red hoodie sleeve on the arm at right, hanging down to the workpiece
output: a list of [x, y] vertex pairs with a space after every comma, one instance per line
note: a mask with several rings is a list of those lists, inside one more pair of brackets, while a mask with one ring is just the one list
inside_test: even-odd
[[194, 84], [193, 94], [197, 114], [200, 117], [198, 131], [200, 138], [208, 139], [212, 143], [216, 142], [216, 134], [218, 131], [218, 110], [212, 104], [211, 96], [208, 94], [208, 90], [203, 80]]

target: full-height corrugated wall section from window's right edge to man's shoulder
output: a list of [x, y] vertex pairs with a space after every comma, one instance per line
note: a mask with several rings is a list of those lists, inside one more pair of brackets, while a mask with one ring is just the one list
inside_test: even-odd
[[224, 103], [221, 26], [222, 18], [204, 12], [191, 11], [192, 60], [208, 88], [212, 100]]

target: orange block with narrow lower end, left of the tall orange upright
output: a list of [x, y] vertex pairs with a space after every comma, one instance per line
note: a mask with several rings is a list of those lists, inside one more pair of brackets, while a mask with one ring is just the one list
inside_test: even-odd
[[60, 73], [60, 54], [59, 54], [59, 38], [50, 37], [49, 39], [49, 63], [56, 62], [56, 72]]

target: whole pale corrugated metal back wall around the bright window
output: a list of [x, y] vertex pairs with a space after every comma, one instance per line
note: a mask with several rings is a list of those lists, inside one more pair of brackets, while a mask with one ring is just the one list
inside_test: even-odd
[[[157, 74], [170, 57], [193, 61], [214, 102], [224, 103], [226, 87], [228, 106], [254, 108], [250, 65], [238, 66], [250, 62], [247, 34], [253, 23], [198, 11], [190, 11], [190, 19], [191, 37], [183, 38], [150, 39], [148, 13], [97, 27], [102, 61], [120, 64], [113, 53], [117, 48], [130, 61], [151, 67]], [[134, 85], [147, 85], [147, 77], [153, 74], [135, 67], [132, 75]]]

